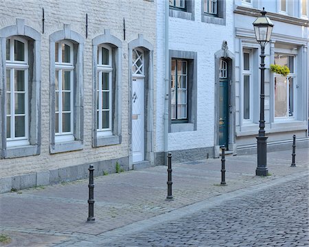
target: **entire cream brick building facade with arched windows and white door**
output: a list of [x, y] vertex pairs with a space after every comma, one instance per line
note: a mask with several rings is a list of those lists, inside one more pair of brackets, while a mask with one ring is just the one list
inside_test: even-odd
[[156, 7], [1, 1], [0, 191], [149, 160]]

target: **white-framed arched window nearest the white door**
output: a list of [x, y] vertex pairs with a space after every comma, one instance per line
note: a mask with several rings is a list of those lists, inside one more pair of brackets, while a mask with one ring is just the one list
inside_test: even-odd
[[112, 135], [112, 49], [108, 45], [98, 47], [97, 80], [97, 131], [98, 136]]

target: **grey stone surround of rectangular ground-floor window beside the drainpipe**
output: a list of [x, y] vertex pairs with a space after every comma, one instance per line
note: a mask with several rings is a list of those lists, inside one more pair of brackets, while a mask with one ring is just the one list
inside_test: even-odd
[[[197, 126], [197, 52], [196, 51], [177, 51], [170, 50], [169, 66], [172, 69], [172, 58], [179, 58], [188, 61], [187, 64], [187, 123], [173, 123], [168, 119], [168, 132], [194, 131]], [[169, 86], [169, 95], [171, 95], [171, 81]], [[169, 115], [171, 111], [171, 102], [169, 101]]]

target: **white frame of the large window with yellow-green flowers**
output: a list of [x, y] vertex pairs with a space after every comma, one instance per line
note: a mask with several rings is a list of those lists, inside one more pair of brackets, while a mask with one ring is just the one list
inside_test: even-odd
[[[288, 75], [286, 75], [286, 112], [287, 115], [284, 117], [275, 117], [275, 95], [273, 95], [273, 108], [274, 108], [274, 117], [275, 117], [275, 121], [290, 121], [290, 120], [295, 120], [296, 119], [296, 114], [297, 114], [297, 107], [296, 107], [296, 84], [297, 84], [297, 76], [296, 76], [296, 69], [297, 69], [297, 59], [295, 55], [292, 54], [282, 54], [282, 53], [277, 53], [279, 55], [286, 55], [286, 56], [293, 56], [293, 73], [289, 73]], [[275, 93], [275, 77], [276, 76], [283, 76], [283, 75], [279, 75], [277, 73], [273, 73], [273, 86], [274, 86], [274, 93]], [[289, 79], [293, 78], [293, 116], [289, 116], [288, 112], [289, 112]]]

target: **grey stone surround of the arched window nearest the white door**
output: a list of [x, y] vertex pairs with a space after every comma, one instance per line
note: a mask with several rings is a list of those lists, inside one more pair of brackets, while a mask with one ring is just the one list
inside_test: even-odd
[[104, 34], [96, 36], [92, 40], [93, 45], [93, 99], [97, 98], [97, 65], [98, 45], [109, 45], [112, 48], [113, 80], [112, 80], [112, 136], [98, 137], [97, 133], [97, 106], [93, 100], [93, 148], [122, 143], [122, 41], [111, 35], [110, 30], [104, 30]]

